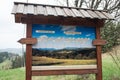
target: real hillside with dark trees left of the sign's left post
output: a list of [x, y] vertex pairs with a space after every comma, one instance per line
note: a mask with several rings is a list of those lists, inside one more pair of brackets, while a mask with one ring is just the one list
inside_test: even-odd
[[0, 52], [0, 69], [13, 69], [24, 67], [24, 55], [9, 52]]

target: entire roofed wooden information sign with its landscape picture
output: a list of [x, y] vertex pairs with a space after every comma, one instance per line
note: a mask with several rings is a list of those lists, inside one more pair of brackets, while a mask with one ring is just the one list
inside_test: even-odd
[[[97, 12], [97, 13], [96, 13]], [[15, 2], [16, 23], [27, 24], [26, 80], [32, 76], [96, 74], [102, 80], [100, 28], [105, 11]], [[93, 13], [93, 14], [91, 14]]]

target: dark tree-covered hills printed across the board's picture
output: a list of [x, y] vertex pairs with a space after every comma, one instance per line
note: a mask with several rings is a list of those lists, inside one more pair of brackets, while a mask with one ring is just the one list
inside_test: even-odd
[[32, 56], [46, 56], [56, 59], [96, 59], [96, 50], [93, 49], [61, 49], [61, 50], [42, 50], [32, 49]]

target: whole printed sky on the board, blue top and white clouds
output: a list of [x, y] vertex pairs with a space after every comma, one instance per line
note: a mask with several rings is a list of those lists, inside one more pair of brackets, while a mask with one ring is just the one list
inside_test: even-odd
[[95, 28], [86, 26], [34, 24], [32, 37], [38, 43], [33, 48], [93, 48]]

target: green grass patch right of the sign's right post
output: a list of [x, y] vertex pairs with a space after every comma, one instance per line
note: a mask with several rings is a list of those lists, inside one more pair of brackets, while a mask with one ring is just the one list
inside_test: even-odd
[[103, 80], [120, 80], [120, 70], [110, 56], [103, 58]]

